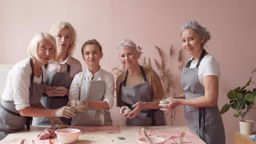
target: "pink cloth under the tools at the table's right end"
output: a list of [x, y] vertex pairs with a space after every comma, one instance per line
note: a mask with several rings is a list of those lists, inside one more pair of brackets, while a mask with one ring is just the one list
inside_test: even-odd
[[[187, 144], [205, 144], [200, 138], [196, 135], [191, 134], [187, 131], [146, 131], [148, 136], [152, 137], [163, 137], [166, 139], [164, 144], [175, 144], [179, 141], [179, 136], [181, 132], [185, 132], [185, 136], [182, 143]], [[139, 137], [144, 137], [141, 131], [138, 132]]]

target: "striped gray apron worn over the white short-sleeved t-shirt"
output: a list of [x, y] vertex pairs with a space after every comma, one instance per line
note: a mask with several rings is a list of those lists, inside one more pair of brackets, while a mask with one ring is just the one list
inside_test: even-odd
[[[189, 68], [193, 58], [187, 63], [186, 68], [182, 70], [181, 84], [186, 99], [205, 95], [204, 86], [200, 84], [197, 77], [198, 67], [205, 53], [206, 51], [203, 49], [196, 68]], [[184, 115], [190, 129], [205, 143], [225, 144], [225, 131], [218, 105], [207, 108], [184, 105]]]

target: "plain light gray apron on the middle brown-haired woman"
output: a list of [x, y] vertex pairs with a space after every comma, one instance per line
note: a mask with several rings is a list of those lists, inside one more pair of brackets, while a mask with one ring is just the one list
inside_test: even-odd
[[[86, 72], [83, 74], [83, 79], [85, 79], [85, 73]], [[80, 88], [79, 100], [103, 101], [105, 86], [105, 81], [83, 80]], [[71, 125], [112, 125], [112, 119], [110, 112], [107, 110], [98, 108], [86, 108], [86, 110], [83, 112], [75, 113], [75, 117], [72, 118]]]

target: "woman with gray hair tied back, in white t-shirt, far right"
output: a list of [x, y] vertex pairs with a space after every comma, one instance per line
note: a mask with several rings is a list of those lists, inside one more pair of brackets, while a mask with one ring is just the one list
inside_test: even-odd
[[181, 28], [182, 47], [193, 56], [182, 70], [181, 84], [185, 93], [160, 104], [162, 111], [184, 105], [190, 129], [207, 144], [225, 144], [225, 131], [217, 105], [220, 68], [216, 59], [203, 49], [210, 32], [196, 21], [187, 21]]

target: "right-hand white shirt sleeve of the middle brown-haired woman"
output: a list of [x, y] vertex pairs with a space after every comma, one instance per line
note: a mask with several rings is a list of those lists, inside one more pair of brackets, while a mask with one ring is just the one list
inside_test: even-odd
[[106, 88], [103, 101], [108, 102], [109, 108], [112, 108], [114, 105], [114, 88], [115, 88], [115, 81], [114, 76], [112, 74], [108, 75], [108, 79], [106, 79]]

